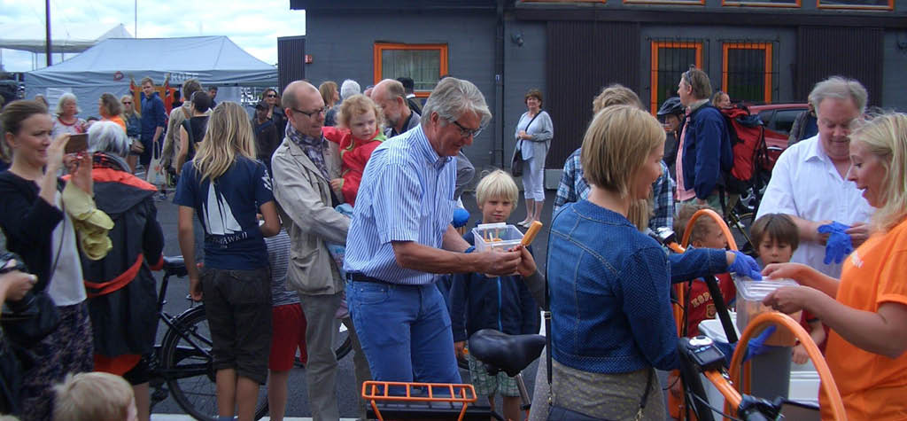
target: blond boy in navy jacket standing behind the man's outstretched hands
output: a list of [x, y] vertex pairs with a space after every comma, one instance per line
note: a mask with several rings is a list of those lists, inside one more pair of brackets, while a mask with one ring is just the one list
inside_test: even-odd
[[[481, 223], [506, 222], [516, 206], [518, 193], [516, 182], [506, 172], [496, 170], [486, 175], [475, 191]], [[474, 244], [473, 231], [466, 232], [463, 239]], [[451, 327], [457, 357], [463, 354], [466, 339], [477, 330], [493, 328], [509, 335], [534, 334], [539, 332], [539, 324], [539, 307], [520, 276], [490, 279], [482, 273], [453, 275]], [[516, 380], [503, 372], [490, 376], [482, 363], [469, 354], [466, 359], [475, 393], [488, 397], [494, 406], [494, 394], [500, 392], [504, 418], [519, 420]]]

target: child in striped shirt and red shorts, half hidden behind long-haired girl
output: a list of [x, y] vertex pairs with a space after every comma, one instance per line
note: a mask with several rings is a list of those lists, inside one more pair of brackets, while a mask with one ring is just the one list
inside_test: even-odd
[[270, 419], [280, 421], [287, 410], [287, 380], [293, 357], [306, 364], [306, 315], [296, 292], [287, 290], [289, 236], [286, 230], [265, 239], [271, 266], [271, 352], [268, 357], [268, 409]]

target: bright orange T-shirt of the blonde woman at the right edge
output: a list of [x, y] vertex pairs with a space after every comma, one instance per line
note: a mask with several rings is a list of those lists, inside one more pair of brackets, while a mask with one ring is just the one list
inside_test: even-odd
[[[907, 220], [873, 235], [844, 261], [835, 299], [845, 306], [878, 311], [883, 303], [907, 305]], [[853, 346], [832, 330], [825, 361], [841, 392], [848, 419], [907, 419], [907, 353], [889, 358]], [[822, 418], [831, 419], [820, 393]]]

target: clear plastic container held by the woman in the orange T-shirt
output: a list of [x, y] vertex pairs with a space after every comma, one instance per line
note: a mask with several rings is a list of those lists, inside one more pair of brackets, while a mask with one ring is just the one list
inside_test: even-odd
[[[742, 332], [749, 325], [749, 321], [766, 311], [775, 311], [762, 304], [762, 300], [781, 287], [796, 287], [800, 284], [794, 279], [764, 279], [753, 280], [749, 277], [734, 277], [737, 289], [736, 296], [736, 326]], [[789, 314], [796, 322], [800, 321], [800, 311]], [[796, 341], [794, 333], [785, 327], [778, 326], [771, 337], [766, 340], [766, 345], [775, 347], [793, 347]]]

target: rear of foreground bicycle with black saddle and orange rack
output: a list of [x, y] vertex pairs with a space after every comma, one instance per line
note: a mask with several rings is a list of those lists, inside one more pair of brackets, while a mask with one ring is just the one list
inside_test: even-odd
[[[507, 335], [482, 329], [469, 338], [470, 354], [481, 361], [492, 376], [505, 372], [516, 377], [522, 410], [528, 417], [532, 398], [522, 379], [522, 370], [535, 361], [545, 347], [541, 335]], [[395, 390], [392, 390], [395, 389]], [[402, 390], [401, 390], [402, 389]], [[452, 419], [504, 421], [491, 406], [472, 405], [478, 400], [470, 384], [368, 381], [362, 386], [368, 404], [366, 417], [378, 420]]]

